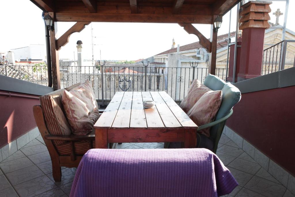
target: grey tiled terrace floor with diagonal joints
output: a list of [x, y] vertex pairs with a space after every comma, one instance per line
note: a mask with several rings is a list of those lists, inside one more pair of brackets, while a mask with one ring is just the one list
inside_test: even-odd
[[[227, 136], [222, 135], [218, 157], [239, 186], [227, 196], [293, 196]], [[123, 143], [117, 149], [158, 149], [163, 143]], [[76, 168], [62, 168], [61, 182], [54, 182], [50, 156], [41, 136], [0, 163], [0, 196], [68, 196]]]

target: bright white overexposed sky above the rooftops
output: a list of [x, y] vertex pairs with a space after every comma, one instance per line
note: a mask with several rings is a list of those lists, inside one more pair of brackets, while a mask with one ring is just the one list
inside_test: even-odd
[[[16, 6], [17, 5], [17, 6]], [[42, 19], [42, 10], [29, 0], [1, 0], [0, 21], [0, 53], [10, 49], [29, 46], [30, 44], [45, 45], [45, 27]], [[276, 22], [272, 13], [280, 9], [285, 14], [285, 2], [273, 1], [271, 4], [271, 22]], [[290, 0], [287, 18], [287, 28], [295, 31], [293, 12], [295, 0]], [[24, 12], [24, 10], [26, 12]], [[23, 13], [23, 14], [22, 14]], [[279, 23], [283, 25], [284, 14]], [[218, 35], [227, 34], [236, 29], [236, 6], [232, 9], [231, 24], [230, 12], [224, 15]], [[61, 36], [74, 22], [58, 22], [57, 36]], [[195, 35], [188, 34], [178, 24], [166, 23], [104, 23], [92, 22], [94, 59], [102, 60], [137, 60], [148, 58], [171, 48], [172, 39], [175, 47], [197, 42]], [[83, 42], [83, 59], [92, 59], [91, 24], [80, 33], [73, 33], [69, 43], [59, 50], [59, 58], [77, 59], [77, 40]], [[194, 24], [207, 38], [210, 37], [210, 25]], [[56, 29], [56, 27], [55, 27]], [[45, 47], [44, 47], [45, 48]]]

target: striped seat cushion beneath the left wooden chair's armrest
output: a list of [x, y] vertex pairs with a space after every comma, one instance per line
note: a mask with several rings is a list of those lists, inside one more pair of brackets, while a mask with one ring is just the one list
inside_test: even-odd
[[[59, 144], [55, 146], [58, 154], [60, 155], [70, 155], [71, 154], [71, 142]], [[89, 147], [89, 141], [83, 140], [83, 141], [76, 141], [74, 142], [75, 147], [75, 154], [81, 154], [83, 155], [86, 153], [89, 149], [95, 148], [95, 140], [92, 141], [92, 147]]]

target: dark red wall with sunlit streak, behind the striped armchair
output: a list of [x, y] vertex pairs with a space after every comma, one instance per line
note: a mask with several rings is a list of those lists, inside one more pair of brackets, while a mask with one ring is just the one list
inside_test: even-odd
[[39, 99], [0, 95], [0, 148], [37, 126], [33, 115], [34, 105], [40, 105]]

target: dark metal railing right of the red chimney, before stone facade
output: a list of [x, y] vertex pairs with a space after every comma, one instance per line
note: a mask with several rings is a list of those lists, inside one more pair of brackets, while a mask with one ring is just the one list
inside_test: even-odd
[[[295, 66], [294, 53], [288, 54], [287, 48], [294, 48], [295, 40], [283, 40], [271, 47], [263, 50], [263, 61], [261, 74], [269, 74], [276, 71], [285, 69], [285, 65], [288, 64], [287, 68], [290, 66]], [[286, 56], [287, 55], [287, 56]], [[291, 58], [288, 57], [292, 56]], [[286, 61], [287, 59], [287, 61]]]

